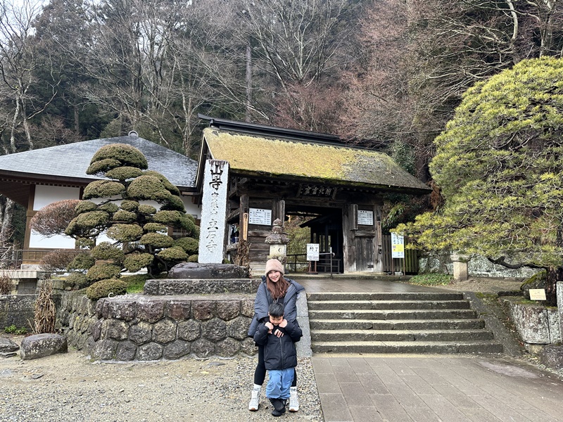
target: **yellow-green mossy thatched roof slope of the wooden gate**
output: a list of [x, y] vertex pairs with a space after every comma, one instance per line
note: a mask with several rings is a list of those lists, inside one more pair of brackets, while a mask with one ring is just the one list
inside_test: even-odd
[[203, 136], [211, 157], [228, 161], [232, 172], [393, 191], [429, 191], [422, 181], [377, 151], [238, 134], [212, 127], [205, 128]]

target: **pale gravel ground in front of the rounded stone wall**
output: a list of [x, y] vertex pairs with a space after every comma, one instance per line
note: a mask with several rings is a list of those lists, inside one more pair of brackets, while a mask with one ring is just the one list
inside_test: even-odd
[[[12, 338], [19, 343], [18, 338]], [[90, 362], [70, 351], [42, 359], [0, 360], [0, 421], [322, 422], [310, 359], [297, 368], [301, 408], [281, 418], [248, 411], [258, 357], [146, 363]]]

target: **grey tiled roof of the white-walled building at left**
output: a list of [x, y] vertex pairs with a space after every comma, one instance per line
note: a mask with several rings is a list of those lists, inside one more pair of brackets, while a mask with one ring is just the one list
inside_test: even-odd
[[179, 187], [195, 186], [197, 162], [136, 135], [94, 139], [0, 156], [0, 174], [15, 172], [25, 177], [99, 179], [86, 174], [94, 153], [110, 143], [127, 143], [139, 149], [148, 161], [148, 170], [163, 174]]

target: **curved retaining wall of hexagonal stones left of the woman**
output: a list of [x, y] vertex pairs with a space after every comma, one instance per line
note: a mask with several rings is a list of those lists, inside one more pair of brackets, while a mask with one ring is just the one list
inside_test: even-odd
[[254, 295], [122, 295], [97, 302], [63, 293], [58, 324], [94, 359], [151, 361], [255, 354]]

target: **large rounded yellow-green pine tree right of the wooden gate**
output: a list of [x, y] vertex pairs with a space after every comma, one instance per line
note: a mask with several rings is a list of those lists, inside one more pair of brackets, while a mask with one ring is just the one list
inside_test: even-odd
[[563, 262], [563, 59], [522, 60], [475, 84], [436, 138], [431, 173], [445, 203], [397, 231], [426, 250], [509, 268]]

